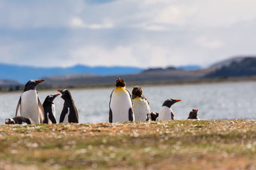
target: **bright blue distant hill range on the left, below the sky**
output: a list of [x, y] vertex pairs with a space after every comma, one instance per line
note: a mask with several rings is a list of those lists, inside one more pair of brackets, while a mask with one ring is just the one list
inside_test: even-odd
[[143, 69], [138, 67], [90, 67], [77, 65], [72, 67], [33, 67], [18, 66], [10, 64], [0, 64], [0, 80], [16, 80], [20, 83], [26, 83], [28, 80], [42, 78], [52, 75], [63, 74], [81, 74], [90, 73], [99, 76], [107, 76], [111, 74], [132, 74], [139, 73]]

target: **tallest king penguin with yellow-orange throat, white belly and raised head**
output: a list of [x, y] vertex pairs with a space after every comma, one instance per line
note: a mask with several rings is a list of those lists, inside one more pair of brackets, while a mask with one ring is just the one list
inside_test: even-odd
[[116, 80], [114, 89], [109, 101], [109, 122], [134, 121], [132, 110], [132, 98], [130, 92], [125, 89], [125, 81], [121, 78]]

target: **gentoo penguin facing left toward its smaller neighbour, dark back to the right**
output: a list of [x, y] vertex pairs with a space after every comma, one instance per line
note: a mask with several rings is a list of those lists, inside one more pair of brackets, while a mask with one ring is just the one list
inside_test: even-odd
[[64, 100], [63, 108], [60, 114], [60, 123], [78, 123], [78, 113], [69, 90], [58, 90], [61, 92], [61, 98]]

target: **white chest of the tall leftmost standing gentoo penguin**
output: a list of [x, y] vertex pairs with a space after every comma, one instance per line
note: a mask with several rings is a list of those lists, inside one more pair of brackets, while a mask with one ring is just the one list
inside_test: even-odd
[[28, 90], [21, 95], [20, 115], [31, 118], [36, 124], [40, 121], [36, 90]]

